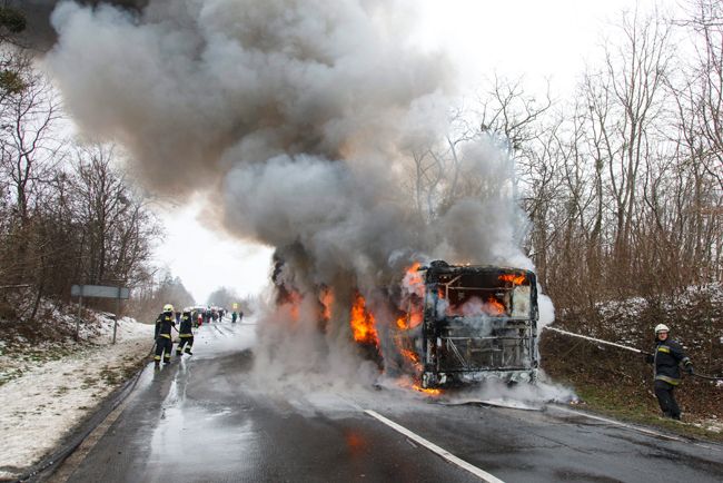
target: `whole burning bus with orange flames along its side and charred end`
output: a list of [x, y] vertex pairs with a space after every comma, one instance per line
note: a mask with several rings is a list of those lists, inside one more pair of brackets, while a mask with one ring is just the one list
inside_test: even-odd
[[[273, 279], [277, 304], [289, 307], [299, 329], [301, 292], [283, 279], [276, 260]], [[337, 322], [349, 325], [358, 354], [392, 377], [410, 376], [417, 390], [437, 390], [496, 377], [535, 382], [537, 353], [537, 283], [533, 272], [496, 266], [432, 262], [407, 269], [397, 290], [370, 304], [359, 290], [338, 296], [331, 287], [315, 289], [318, 314], [313, 323], [329, 333]], [[397, 300], [397, 302], [393, 302]], [[385, 314], [394, 313], [396, 324]], [[336, 308], [334, 308], [336, 307]], [[341, 314], [348, 314], [346, 317]], [[335, 315], [336, 314], [336, 315]]]

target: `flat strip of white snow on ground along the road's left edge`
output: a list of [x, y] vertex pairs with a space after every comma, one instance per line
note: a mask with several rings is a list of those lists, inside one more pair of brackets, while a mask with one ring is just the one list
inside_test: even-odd
[[[13, 473], [56, 448], [152, 347], [152, 325], [121, 318], [115, 345], [112, 321], [105, 317], [97, 328], [92, 345], [36, 366], [26, 363], [14, 378], [0, 385], [0, 479], [17, 477]], [[0, 358], [6, 359], [0, 365], [11, 365], [9, 355]]]

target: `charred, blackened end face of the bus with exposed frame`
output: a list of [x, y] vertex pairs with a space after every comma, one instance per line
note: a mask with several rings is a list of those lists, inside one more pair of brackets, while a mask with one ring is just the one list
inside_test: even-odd
[[414, 344], [423, 387], [488, 377], [536, 381], [538, 308], [533, 272], [440, 260], [423, 270], [424, 317]]

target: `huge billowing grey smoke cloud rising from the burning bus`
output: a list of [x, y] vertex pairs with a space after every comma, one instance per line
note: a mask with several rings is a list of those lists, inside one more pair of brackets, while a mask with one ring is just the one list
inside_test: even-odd
[[450, 151], [454, 69], [408, 40], [414, 10], [151, 0], [140, 13], [75, 2], [53, 13], [48, 65], [78, 125], [122, 144], [156, 191], [222, 188], [224, 225], [277, 248], [289, 304], [273, 300], [261, 325], [267, 381], [373, 377], [349, 307], [358, 290], [384, 332], [414, 260], [531, 268], [514, 239], [512, 166], [489, 144]]

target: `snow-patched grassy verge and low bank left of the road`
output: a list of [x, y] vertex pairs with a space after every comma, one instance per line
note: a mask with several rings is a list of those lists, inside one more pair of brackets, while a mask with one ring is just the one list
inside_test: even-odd
[[119, 321], [111, 345], [110, 314], [88, 313], [76, 342], [72, 315], [56, 307], [46, 313], [41, 327], [55, 337], [16, 332], [0, 346], [0, 479], [18, 477], [52, 452], [132, 376], [152, 346], [153, 326], [131, 318]]

